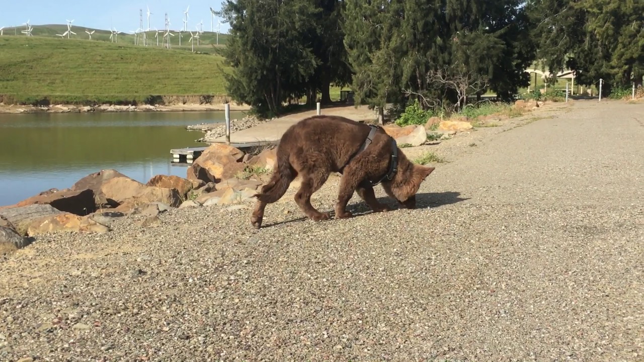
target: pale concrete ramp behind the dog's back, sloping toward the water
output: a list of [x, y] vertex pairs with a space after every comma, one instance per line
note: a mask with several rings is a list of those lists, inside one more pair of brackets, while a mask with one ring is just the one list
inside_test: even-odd
[[[306, 117], [316, 115], [317, 111], [306, 111], [302, 113], [294, 113], [292, 115], [285, 115], [278, 119], [271, 120], [247, 129], [242, 129], [231, 134], [231, 143], [236, 144], [256, 144], [256, 143], [277, 143], [279, 138], [290, 126], [296, 124]], [[373, 110], [369, 110], [367, 106], [342, 106], [332, 108], [322, 108], [321, 114], [323, 115], [341, 115], [353, 120], [370, 120], [375, 118]], [[214, 143], [226, 142], [226, 137], [218, 137], [210, 141]]]

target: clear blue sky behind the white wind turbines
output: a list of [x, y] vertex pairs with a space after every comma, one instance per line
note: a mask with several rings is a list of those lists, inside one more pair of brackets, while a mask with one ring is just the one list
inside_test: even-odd
[[[114, 26], [119, 32], [137, 30], [139, 26], [138, 10], [143, 9], [143, 26], [147, 30], [147, 8], [150, 12], [150, 28], [163, 29], [165, 27], [165, 13], [170, 20], [171, 30], [184, 28], [184, 10], [188, 10], [188, 30], [196, 30], [196, 24], [204, 21], [204, 32], [211, 30], [210, 7], [215, 11], [221, 9], [222, 0], [31, 0], [14, 1], [2, 0], [0, 10], [0, 27], [20, 26], [29, 20], [33, 25], [41, 24], [66, 24], [66, 19], [73, 19], [72, 26], [98, 28], [108, 30]], [[214, 18], [214, 31], [217, 30], [217, 20]], [[220, 19], [223, 21], [223, 19]], [[220, 31], [227, 33], [228, 24], [222, 24]]]

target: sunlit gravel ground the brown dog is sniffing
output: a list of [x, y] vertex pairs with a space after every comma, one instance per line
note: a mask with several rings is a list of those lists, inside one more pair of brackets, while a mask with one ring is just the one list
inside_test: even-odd
[[644, 104], [551, 114], [406, 150], [450, 161], [421, 209], [315, 223], [290, 191], [260, 231], [209, 206], [39, 238], [0, 259], [0, 359], [644, 361]]

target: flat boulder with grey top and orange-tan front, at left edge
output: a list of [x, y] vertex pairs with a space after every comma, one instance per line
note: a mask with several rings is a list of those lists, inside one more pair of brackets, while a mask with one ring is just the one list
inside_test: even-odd
[[104, 233], [108, 227], [88, 216], [64, 213], [48, 204], [32, 204], [0, 210], [0, 214], [21, 236], [34, 236], [49, 231], [93, 231]]

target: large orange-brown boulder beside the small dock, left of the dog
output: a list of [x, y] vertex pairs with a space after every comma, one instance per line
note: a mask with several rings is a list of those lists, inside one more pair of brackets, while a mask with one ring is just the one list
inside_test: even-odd
[[243, 151], [225, 144], [213, 144], [202, 152], [188, 167], [187, 178], [191, 181], [220, 182], [242, 172], [246, 165], [240, 162]]

